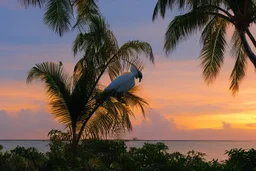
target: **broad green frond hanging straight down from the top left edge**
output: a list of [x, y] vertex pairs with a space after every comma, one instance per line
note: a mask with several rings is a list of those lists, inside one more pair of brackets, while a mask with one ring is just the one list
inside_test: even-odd
[[44, 22], [60, 36], [70, 30], [73, 9], [69, 0], [50, 0], [46, 4]]

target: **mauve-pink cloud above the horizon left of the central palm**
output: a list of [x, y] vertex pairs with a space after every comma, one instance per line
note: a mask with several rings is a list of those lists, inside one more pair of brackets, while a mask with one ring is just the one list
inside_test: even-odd
[[15, 115], [0, 111], [1, 139], [46, 139], [51, 129], [63, 130], [44, 110], [21, 109]]

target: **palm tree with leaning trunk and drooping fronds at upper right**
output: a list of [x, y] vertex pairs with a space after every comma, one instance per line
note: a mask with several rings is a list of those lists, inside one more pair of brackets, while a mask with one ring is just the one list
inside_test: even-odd
[[172, 52], [179, 42], [189, 35], [201, 31], [203, 45], [200, 55], [203, 77], [206, 83], [212, 83], [218, 76], [227, 48], [226, 33], [234, 26], [231, 39], [231, 55], [236, 62], [230, 75], [230, 90], [236, 94], [239, 83], [245, 76], [247, 60], [256, 67], [256, 55], [251, 50], [247, 38], [256, 47], [256, 41], [250, 27], [256, 23], [255, 0], [158, 0], [153, 12], [153, 20], [158, 14], [165, 17], [167, 9], [185, 11], [176, 16], [165, 33], [164, 49]]

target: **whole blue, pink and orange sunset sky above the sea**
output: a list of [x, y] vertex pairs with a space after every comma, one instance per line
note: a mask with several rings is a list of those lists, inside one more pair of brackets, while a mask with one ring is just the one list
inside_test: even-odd
[[[166, 56], [164, 33], [179, 12], [152, 22], [155, 3], [99, 2], [120, 45], [133, 39], [147, 41], [156, 57], [155, 65], [146, 65], [141, 82], [141, 95], [150, 104], [147, 117], [137, 114], [133, 132], [124, 138], [256, 140], [256, 73], [252, 65], [248, 63], [246, 78], [235, 97], [229, 91], [234, 65], [229, 53], [219, 77], [207, 86], [198, 61], [199, 34]], [[43, 24], [42, 18], [43, 10], [23, 9], [18, 0], [0, 1], [0, 139], [44, 139], [50, 129], [63, 129], [48, 111], [44, 85], [27, 85], [25, 80], [28, 70], [43, 61], [62, 61], [71, 73], [79, 59], [71, 51], [76, 33], [59, 37]], [[109, 80], [102, 83], [107, 85]]]

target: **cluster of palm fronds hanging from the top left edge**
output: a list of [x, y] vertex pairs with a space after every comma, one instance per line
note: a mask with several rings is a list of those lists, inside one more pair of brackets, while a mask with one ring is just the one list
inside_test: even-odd
[[25, 7], [39, 7], [45, 10], [44, 23], [62, 36], [74, 27], [87, 25], [90, 19], [99, 15], [97, 0], [19, 0]]

